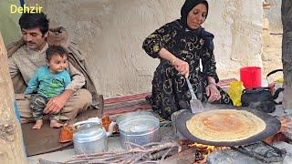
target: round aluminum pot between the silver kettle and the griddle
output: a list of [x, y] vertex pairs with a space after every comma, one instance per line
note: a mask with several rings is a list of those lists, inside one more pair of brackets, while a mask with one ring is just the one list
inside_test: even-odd
[[127, 142], [142, 146], [161, 140], [159, 118], [155, 118], [149, 114], [134, 113], [122, 116], [118, 121], [118, 125], [120, 144], [123, 149], [132, 148]]

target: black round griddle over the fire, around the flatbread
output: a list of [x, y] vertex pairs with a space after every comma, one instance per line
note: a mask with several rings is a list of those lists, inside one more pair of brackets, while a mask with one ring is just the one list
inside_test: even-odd
[[226, 147], [234, 147], [234, 146], [241, 146], [241, 145], [248, 145], [253, 144], [258, 141], [265, 140], [266, 138], [269, 138], [271, 136], [274, 136], [279, 128], [281, 128], [281, 122], [264, 112], [258, 111], [258, 110], [248, 110], [248, 112], [251, 112], [255, 114], [258, 118], [262, 118], [266, 123], [266, 129], [258, 134], [256, 134], [253, 137], [245, 138], [243, 140], [238, 141], [224, 141], [224, 142], [214, 142], [209, 140], [203, 140], [201, 138], [196, 138], [193, 136], [192, 133], [186, 128], [186, 121], [191, 119], [195, 114], [190, 113], [190, 111], [185, 110], [182, 113], [178, 115], [178, 117], [175, 120], [175, 126], [176, 128], [182, 133], [184, 138], [188, 138], [196, 143], [201, 143], [204, 145], [212, 145], [212, 146], [226, 146]]

